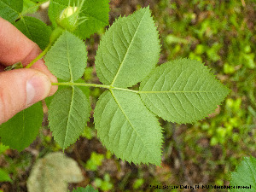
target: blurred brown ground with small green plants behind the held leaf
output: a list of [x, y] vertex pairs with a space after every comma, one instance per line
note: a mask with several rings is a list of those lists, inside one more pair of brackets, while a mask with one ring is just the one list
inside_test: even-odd
[[[69, 189], [89, 183], [100, 191], [156, 191], [150, 185], [157, 184], [228, 185], [230, 171], [235, 170], [242, 157], [256, 156], [255, 1], [114, 0], [110, 1], [110, 25], [119, 15], [130, 15], [148, 4], [160, 31], [160, 63], [178, 57], [202, 61], [232, 91], [215, 113], [195, 125], [160, 119], [165, 131], [162, 167], [136, 166], [118, 160], [99, 142], [90, 118], [83, 137], [65, 151], [79, 163], [85, 178], [81, 183], [69, 184]], [[43, 12], [38, 11], [36, 16], [44, 16]], [[84, 79], [89, 83], [99, 83], [94, 61], [103, 32], [86, 40], [89, 68]], [[101, 93], [100, 89], [90, 89], [92, 108]], [[23, 152], [0, 145], [0, 167], [12, 180], [0, 183], [0, 190], [27, 191], [26, 180], [35, 161], [61, 150], [51, 137], [47, 113], [44, 119], [39, 137]]]

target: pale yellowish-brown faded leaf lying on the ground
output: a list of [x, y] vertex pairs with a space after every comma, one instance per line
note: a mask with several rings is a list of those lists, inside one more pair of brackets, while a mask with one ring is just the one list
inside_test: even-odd
[[79, 183], [83, 179], [75, 160], [55, 152], [35, 163], [27, 180], [27, 188], [29, 192], [67, 191], [68, 183]]

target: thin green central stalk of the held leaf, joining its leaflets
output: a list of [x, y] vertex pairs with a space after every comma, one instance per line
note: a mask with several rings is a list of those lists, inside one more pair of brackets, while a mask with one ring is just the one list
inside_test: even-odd
[[72, 82], [51, 83], [51, 84], [52, 85], [64, 85], [64, 86], [99, 87], [99, 88], [105, 88], [108, 90], [125, 90], [125, 91], [134, 92], [134, 93], [139, 93], [138, 90], [129, 90], [129, 89], [124, 89], [124, 88], [119, 88], [119, 87], [113, 87], [113, 86], [107, 85], [107, 84], [85, 84], [85, 83], [72, 83]]

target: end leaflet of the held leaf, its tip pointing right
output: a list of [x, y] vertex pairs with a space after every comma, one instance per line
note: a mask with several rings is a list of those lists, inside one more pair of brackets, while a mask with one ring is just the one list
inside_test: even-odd
[[178, 59], [157, 67], [139, 93], [153, 113], [183, 124], [213, 113], [229, 92], [200, 61]]

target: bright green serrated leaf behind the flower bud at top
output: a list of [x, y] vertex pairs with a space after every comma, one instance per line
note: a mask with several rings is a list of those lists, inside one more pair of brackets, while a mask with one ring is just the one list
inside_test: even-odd
[[[81, 0], [79, 0], [81, 2]], [[66, 9], [69, 0], [51, 0], [49, 3], [49, 19], [54, 26], [57, 26], [57, 20], [59, 20], [62, 10]], [[78, 0], [71, 1], [70, 5], [73, 6], [73, 2], [78, 3]], [[108, 0], [86, 0], [79, 13], [79, 17], [85, 17], [86, 20], [74, 31], [80, 38], [90, 38], [90, 35], [97, 32], [104, 26], [108, 26], [108, 12], [109, 12]]]

